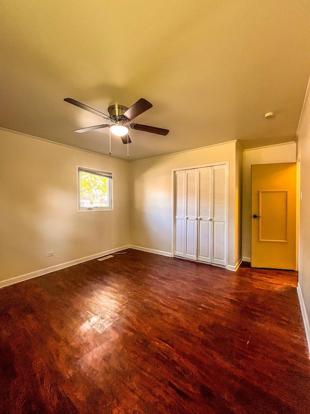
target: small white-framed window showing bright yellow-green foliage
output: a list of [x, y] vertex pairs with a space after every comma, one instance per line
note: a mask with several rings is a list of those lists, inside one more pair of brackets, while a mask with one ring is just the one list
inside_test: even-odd
[[78, 167], [78, 210], [112, 210], [112, 173]]

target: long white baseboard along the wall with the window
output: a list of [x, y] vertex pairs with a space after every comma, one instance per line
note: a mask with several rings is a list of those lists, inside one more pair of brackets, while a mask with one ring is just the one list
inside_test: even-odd
[[61, 263], [60, 265], [46, 267], [45, 269], [36, 270], [35, 272], [26, 273], [21, 276], [16, 276], [14, 278], [6, 279], [4, 281], [0, 281], [0, 288], [4, 286], [9, 286], [10, 284], [27, 281], [28, 279], [37, 278], [38, 276], [43, 276], [43, 275], [46, 275], [47, 273], [55, 272], [56, 270], [61, 270], [66, 267], [79, 265], [80, 263], [88, 262], [89, 260], [97, 259], [98, 257], [106, 256], [107, 254], [111, 254], [119, 250], [124, 250], [125, 248], [130, 248], [130, 246], [112, 248], [107, 251], [102, 251], [101, 253], [92, 254], [91, 256], [87, 256], [87, 257], [81, 257], [80, 259], [77, 259], [77, 260], [72, 260], [71, 262]]

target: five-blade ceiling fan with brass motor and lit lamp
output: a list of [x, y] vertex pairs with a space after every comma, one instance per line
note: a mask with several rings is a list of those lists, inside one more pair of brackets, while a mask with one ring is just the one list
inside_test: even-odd
[[79, 130], [75, 130], [75, 132], [88, 132], [93, 130], [98, 130], [101, 128], [109, 128], [110, 132], [114, 135], [120, 136], [124, 144], [130, 144], [131, 139], [129, 138], [129, 128], [132, 130], [137, 131], [144, 131], [144, 132], [152, 132], [159, 135], [167, 135], [169, 130], [165, 130], [163, 128], [156, 128], [151, 127], [149, 125], [142, 125], [131, 123], [127, 125], [129, 121], [131, 121], [136, 116], [142, 114], [143, 112], [147, 111], [148, 109], [152, 108], [152, 103], [147, 101], [146, 99], [140, 98], [134, 103], [130, 108], [127, 108], [124, 105], [110, 105], [108, 108], [109, 115], [103, 114], [96, 109], [91, 108], [90, 106], [85, 105], [84, 103], [78, 102], [72, 98], [65, 98], [63, 99], [66, 102], [72, 103], [79, 108], [85, 109], [86, 111], [92, 112], [95, 115], [101, 116], [104, 119], [107, 119], [112, 122], [111, 125], [103, 124], [103, 125], [95, 125], [93, 127], [82, 128]]

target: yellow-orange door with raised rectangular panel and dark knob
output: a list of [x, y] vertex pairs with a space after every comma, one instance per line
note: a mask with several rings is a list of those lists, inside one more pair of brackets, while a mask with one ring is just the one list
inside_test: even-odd
[[251, 266], [296, 269], [296, 164], [252, 166]]

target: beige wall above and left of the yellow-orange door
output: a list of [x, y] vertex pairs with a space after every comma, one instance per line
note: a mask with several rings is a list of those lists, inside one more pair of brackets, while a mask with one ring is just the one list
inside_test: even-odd
[[251, 258], [251, 165], [294, 163], [296, 144], [273, 145], [270, 147], [246, 149], [243, 152], [243, 218], [242, 218], [242, 256]]

